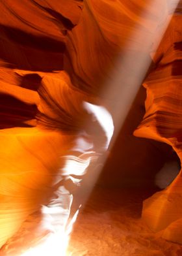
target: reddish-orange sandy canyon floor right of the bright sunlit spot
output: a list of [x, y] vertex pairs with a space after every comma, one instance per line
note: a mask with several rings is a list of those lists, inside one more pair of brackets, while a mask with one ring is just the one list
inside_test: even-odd
[[181, 256], [182, 246], [151, 232], [140, 219], [142, 200], [152, 192], [95, 189], [78, 217], [72, 256]]

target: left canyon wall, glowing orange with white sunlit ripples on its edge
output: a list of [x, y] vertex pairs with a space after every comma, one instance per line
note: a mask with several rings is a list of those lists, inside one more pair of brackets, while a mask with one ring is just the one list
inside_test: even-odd
[[81, 1], [2, 1], [1, 7], [1, 253], [19, 255], [55, 234], [56, 253], [63, 254], [65, 244], [54, 237], [70, 232], [73, 194], [107, 150], [112, 118], [61, 71]]

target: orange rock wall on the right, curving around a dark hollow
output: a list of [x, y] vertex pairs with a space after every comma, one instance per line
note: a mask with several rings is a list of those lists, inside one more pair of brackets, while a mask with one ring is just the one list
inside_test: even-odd
[[[157, 50], [157, 67], [144, 82], [147, 90], [146, 114], [134, 135], [152, 138], [172, 146], [181, 160], [181, 50], [179, 9], [172, 18]], [[169, 37], [170, 34], [170, 37]], [[142, 217], [153, 231], [182, 244], [181, 172], [166, 189], [144, 201]]]

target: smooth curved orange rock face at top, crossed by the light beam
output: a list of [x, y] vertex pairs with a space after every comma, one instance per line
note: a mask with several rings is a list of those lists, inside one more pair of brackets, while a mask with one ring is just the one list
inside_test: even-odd
[[[151, 40], [155, 40], [156, 28], [165, 20], [167, 10], [165, 0], [147, 4], [142, 0], [84, 1], [79, 24], [68, 31], [66, 42], [64, 68], [73, 85], [94, 95], [116, 98], [104, 93], [105, 87], [116, 84], [121, 72], [131, 72], [118, 61], [128, 52], [132, 61], [135, 56], [149, 55]], [[126, 83], [124, 74], [117, 82]]]

